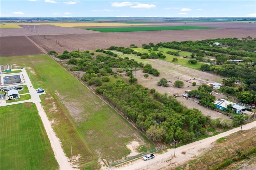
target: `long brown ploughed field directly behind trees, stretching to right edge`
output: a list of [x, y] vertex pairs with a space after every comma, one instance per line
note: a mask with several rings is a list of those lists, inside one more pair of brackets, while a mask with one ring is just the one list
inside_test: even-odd
[[[73, 51], [78, 47], [82, 50], [94, 50], [108, 48], [110, 46], [141, 46], [143, 43], [158, 43], [167, 41], [204, 40], [212, 38], [242, 38], [255, 37], [255, 28], [230, 28], [230, 29], [201, 29], [201, 30], [171, 30], [171, 31], [142, 31], [142, 32], [109, 32], [77, 35], [49, 35], [47, 40], [44, 36], [29, 36], [46, 51], [64, 50]], [[59, 46], [56, 46], [56, 38]]]

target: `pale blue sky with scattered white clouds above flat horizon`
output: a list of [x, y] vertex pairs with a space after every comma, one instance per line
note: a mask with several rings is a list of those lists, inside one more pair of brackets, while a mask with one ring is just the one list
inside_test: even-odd
[[256, 1], [1, 0], [1, 17], [256, 17]]

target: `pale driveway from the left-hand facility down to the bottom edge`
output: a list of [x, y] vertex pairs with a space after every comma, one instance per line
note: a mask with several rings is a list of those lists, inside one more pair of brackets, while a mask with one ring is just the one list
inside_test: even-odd
[[[32, 102], [32, 103], [35, 103], [36, 104], [36, 108], [38, 110], [38, 114], [39, 116], [41, 117], [41, 120], [43, 122], [43, 125], [45, 127], [45, 131], [48, 135], [48, 138], [50, 140], [50, 143], [51, 143], [51, 147], [52, 147], [52, 150], [54, 152], [54, 155], [55, 155], [55, 158], [60, 166], [60, 169], [64, 170], [64, 169], [74, 169], [72, 168], [72, 165], [71, 163], [69, 162], [69, 159], [66, 157], [65, 155], [65, 152], [62, 150], [61, 148], [61, 142], [59, 140], [59, 138], [56, 136], [54, 130], [52, 129], [51, 127], [51, 123], [41, 105], [41, 99], [40, 99], [40, 95], [41, 94], [45, 94], [44, 93], [37, 93], [36, 89], [33, 88], [33, 85], [29, 79], [29, 76], [26, 72], [25, 69], [13, 69], [13, 71], [15, 70], [21, 70], [22, 71], [22, 74], [25, 78], [25, 81], [24, 83], [22, 84], [18, 84], [18, 85], [27, 85], [28, 87], [28, 91], [29, 93], [26, 93], [26, 94], [30, 94], [31, 96], [31, 99], [28, 99], [28, 100], [23, 100], [23, 101], [16, 101], [16, 102], [12, 102], [12, 103], [6, 103], [5, 100], [0, 100], [0, 106], [8, 106], [8, 105], [14, 105], [14, 104], [19, 104], [19, 103], [27, 103], [27, 102]], [[15, 75], [17, 73], [11, 73], [9, 75]], [[10, 85], [4, 85], [3, 87], [8, 87]], [[31, 87], [30, 87], [31, 86]], [[21, 95], [25, 95], [25, 94], [21, 94]]]

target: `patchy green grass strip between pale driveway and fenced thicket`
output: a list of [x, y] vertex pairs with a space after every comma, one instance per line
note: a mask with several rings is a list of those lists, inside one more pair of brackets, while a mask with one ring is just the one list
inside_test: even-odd
[[73, 156], [81, 156], [76, 162], [81, 168], [100, 168], [99, 158], [107, 161], [123, 158], [131, 152], [126, 144], [134, 140], [146, 150], [155, 147], [48, 55], [1, 58], [1, 64], [5, 63], [17, 66], [26, 63], [31, 67], [30, 80], [34, 88], [47, 91], [40, 98], [53, 129], [68, 157], [71, 157], [72, 141]]

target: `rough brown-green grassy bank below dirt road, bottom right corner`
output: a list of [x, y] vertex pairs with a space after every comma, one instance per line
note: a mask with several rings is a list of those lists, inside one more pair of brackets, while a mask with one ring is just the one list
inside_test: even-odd
[[[256, 146], [256, 128], [250, 130], [236, 132], [226, 137], [218, 139], [210, 147], [200, 151], [200, 155], [194, 157], [193, 160], [184, 162], [183, 165], [177, 167], [177, 163], [166, 166], [165, 170], [170, 169], [209, 169], [214, 168], [225, 162], [228, 159], [235, 158], [239, 155], [239, 152], [246, 153], [248, 157], [243, 156], [241, 160], [232, 162], [230, 165], [224, 166], [223, 170], [226, 169], [255, 169], [256, 153], [248, 155], [248, 152]], [[226, 139], [226, 140], [225, 140]], [[237, 152], [237, 151], [239, 152]], [[184, 156], [186, 156], [185, 153]], [[241, 165], [243, 164], [243, 165]], [[252, 165], [254, 164], [254, 165]]]

